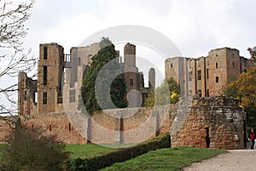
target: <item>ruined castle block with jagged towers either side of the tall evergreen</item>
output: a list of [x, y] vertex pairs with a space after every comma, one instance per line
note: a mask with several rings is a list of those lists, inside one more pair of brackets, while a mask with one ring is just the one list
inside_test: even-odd
[[[99, 43], [87, 47], [70, 49], [64, 54], [64, 48], [57, 43], [45, 43], [39, 46], [38, 80], [27, 77], [25, 72], [19, 75], [18, 106], [20, 115], [77, 112], [79, 91], [91, 58], [100, 49]], [[117, 60], [120, 63], [119, 51]], [[136, 66], [136, 46], [126, 43], [124, 48], [123, 75], [127, 86], [129, 107], [139, 107], [147, 97], [149, 88], [144, 87], [143, 72]], [[148, 84], [154, 88], [155, 72], [148, 72]], [[139, 93], [138, 93], [139, 92]]]

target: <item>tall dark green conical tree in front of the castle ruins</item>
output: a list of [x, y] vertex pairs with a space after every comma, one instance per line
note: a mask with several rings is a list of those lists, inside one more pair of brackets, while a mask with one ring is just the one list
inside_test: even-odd
[[[122, 74], [115, 76], [121, 68], [118, 61], [114, 60], [116, 59], [114, 45], [108, 38], [103, 37], [100, 48], [98, 53], [92, 57], [92, 64], [85, 75], [81, 98], [79, 98], [79, 109], [85, 112], [85, 106], [90, 114], [101, 109], [127, 106], [125, 79]], [[113, 82], [111, 77], [113, 77]]]

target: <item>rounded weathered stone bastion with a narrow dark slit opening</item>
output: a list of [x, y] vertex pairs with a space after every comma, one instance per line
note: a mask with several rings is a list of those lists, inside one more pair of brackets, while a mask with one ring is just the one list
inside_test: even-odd
[[208, 140], [211, 148], [242, 149], [245, 120], [246, 113], [237, 100], [195, 98], [183, 126], [172, 134], [172, 146], [207, 147]]

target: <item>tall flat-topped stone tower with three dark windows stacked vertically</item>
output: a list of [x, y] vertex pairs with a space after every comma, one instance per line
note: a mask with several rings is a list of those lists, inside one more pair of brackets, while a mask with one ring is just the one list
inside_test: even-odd
[[38, 61], [38, 113], [58, 112], [62, 107], [64, 48], [57, 43], [40, 44]]

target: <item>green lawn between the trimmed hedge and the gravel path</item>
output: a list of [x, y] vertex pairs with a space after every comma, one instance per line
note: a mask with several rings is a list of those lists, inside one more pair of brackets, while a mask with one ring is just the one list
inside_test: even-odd
[[165, 148], [135, 157], [126, 162], [118, 162], [102, 171], [108, 170], [168, 170], [177, 171], [189, 166], [193, 162], [201, 162], [209, 157], [215, 157], [224, 150], [204, 149], [194, 147]]

